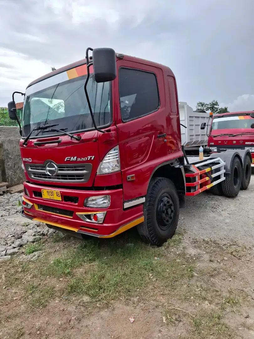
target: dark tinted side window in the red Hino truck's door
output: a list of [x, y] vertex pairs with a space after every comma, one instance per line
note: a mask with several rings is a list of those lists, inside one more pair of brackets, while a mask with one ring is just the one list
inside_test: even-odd
[[159, 106], [158, 86], [153, 73], [120, 68], [119, 91], [123, 121], [142, 117]]

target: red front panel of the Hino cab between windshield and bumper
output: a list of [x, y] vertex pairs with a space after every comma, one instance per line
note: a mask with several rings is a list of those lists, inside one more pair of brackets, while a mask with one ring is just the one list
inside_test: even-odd
[[[26, 167], [26, 179], [28, 181], [33, 181], [34, 183], [48, 183], [50, 185], [92, 186], [100, 162], [110, 151], [110, 149], [118, 144], [116, 127], [111, 127], [111, 133], [101, 134], [97, 131], [89, 131], [79, 135], [82, 138], [80, 141], [76, 141], [75, 139], [71, 140], [70, 137], [65, 135], [50, 138], [30, 139], [28, 140], [27, 146], [24, 146], [22, 144], [23, 140], [21, 140], [20, 152], [23, 164]], [[62, 140], [59, 144], [34, 144], [36, 142], [43, 141], [58, 141], [59, 139]], [[36, 178], [38, 179], [35, 179], [35, 176], [31, 178], [31, 175], [29, 177], [27, 170], [31, 170], [31, 168], [33, 168], [37, 171], [38, 169], [39, 171], [44, 171], [45, 166], [43, 167], [38, 165], [46, 165], [47, 160], [51, 160], [56, 165], [62, 165], [61, 171], [70, 170], [70, 167], [68, 166], [63, 169], [64, 165], [74, 165], [76, 170], [79, 171], [78, 165], [81, 165], [80, 167], [84, 167], [86, 170], [88, 170], [89, 174], [87, 174], [86, 179], [89, 179], [86, 182], [73, 182], [73, 180], [71, 180], [72, 182], [69, 183], [54, 181], [54, 178], [56, 177], [51, 177], [50, 181], [43, 179], [40, 180], [40, 173], [36, 173]], [[28, 168], [29, 164], [36, 166]], [[73, 167], [71, 167], [71, 170], [72, 169]], [[73, 173], [73, 177], [75, 177], [75, 174], [76, 173]]]

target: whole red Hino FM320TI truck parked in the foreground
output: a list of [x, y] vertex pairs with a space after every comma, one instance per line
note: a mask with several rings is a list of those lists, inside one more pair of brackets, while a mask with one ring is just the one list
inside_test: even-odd
[[22, 215], [79, 237], [137, 226], [161, 245], [185, 196], [219, 183], [236, 196], [251, 159], [248, 149], [187, 157], [171, 69], [111, 48], [87, 48], [85, 59], [31, 82], [20, 134]]

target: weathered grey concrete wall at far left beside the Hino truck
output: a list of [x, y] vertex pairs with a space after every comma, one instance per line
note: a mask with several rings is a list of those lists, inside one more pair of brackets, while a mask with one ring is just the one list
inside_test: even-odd
[[8, 187], [21, 184], [25, 180], [19, 140], [19, 127], [0, 126], [0, 182], [8, 182]]

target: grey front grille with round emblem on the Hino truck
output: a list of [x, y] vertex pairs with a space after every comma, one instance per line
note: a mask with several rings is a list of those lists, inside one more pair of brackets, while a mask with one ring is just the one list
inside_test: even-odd
[[[48, 171], [49, 174], [46, 173], [48, 164], [50, 164], [51, 167], [54, 166], [54, 171]], [[26, 171], [29, 178], [35, 180], [69, 183], [87, 182], [92, 172], [92, 164], [58, 165], [53, 161], [47, 160], [43, 165], [26, 164]], [[54, 172], [56, 172], [56, 174]]]

